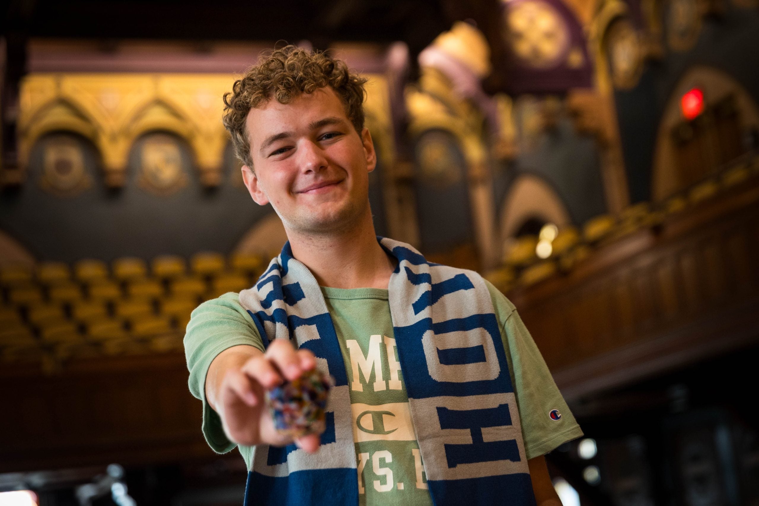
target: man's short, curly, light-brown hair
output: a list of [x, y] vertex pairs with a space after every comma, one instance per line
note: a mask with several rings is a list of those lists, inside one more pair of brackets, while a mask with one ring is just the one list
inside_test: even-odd
[[345, 62], [324, 52], [290, 45], [264, 53], [258, 65], [247, 69], [242, 79], [235, 81], [231, 93], [224, 94], [222, 121], [231, 135], [235, 155], [253, 169], [245, 127], [250, 109], [263, 106], [272, 98], [289, 103], [302, 93], [313, 93], [327, 86], [335, 90], [345, 107], [345, 115], [361, 135], [366, 82], [364, 77], [351, 73]]

